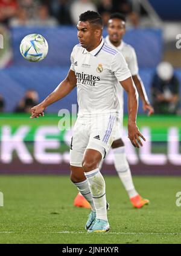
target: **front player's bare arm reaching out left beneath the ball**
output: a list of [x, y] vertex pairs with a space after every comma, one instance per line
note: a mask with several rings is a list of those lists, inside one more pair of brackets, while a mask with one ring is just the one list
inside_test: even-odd
[[46, 107], [68, 95], [71, 90], [74, 89], [76, 84], [77, 79], [75, 73], [74, 71], [69, 70], [68, 76], [59, 84], [59, 86], [57, 86], [57, 88], [50, 95], [48, 95], [48, 97], [44, 99], [42, 103], [32, 107], [30, 118], [38, 118], [40, 115], [43, 116], [43, 110]]

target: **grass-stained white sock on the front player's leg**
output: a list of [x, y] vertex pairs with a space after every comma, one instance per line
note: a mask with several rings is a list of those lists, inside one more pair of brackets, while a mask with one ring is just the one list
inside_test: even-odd
[[84, 172], [84, 175], [87, 178], [90, 192], [94, 200], [96, 218], [107, 220], [106, 184], [103, 175], [101, 175], [98, 168], [90, 172]]

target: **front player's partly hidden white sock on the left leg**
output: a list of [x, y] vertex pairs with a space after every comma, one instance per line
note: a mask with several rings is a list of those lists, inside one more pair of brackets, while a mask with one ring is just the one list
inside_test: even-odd
[[89, 204], [92, 208], [92, 211], [95, 212], [94, 200], [90, 193], [89, 184], [88, 184], [87, 180], [84, 180], [79, 183], [74, 183], [74, 184], [75, 184], [75, 186], [77, 186], [80, 194], [83, 195], [83, 197], [86, 198], [86, 200], [89, 202]]

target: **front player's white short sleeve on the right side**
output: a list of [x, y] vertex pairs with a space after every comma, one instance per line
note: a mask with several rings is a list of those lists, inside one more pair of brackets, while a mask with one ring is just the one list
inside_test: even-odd
[[132, 76], [121, 53], [116, 53], [116, 55], [113, 57], [111, 62], [111, 70], [118, 81], [123, 81]]

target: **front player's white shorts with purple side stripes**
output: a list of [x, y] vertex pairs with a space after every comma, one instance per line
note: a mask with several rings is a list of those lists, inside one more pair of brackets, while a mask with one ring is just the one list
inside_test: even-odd
[[86, 149], [94, 149], [106, 156], [115, 140], [118, 115], [116, 113], [97, 116], [78, 116], [73, 129], [70, 147], [71, 166], [82, 166]]

